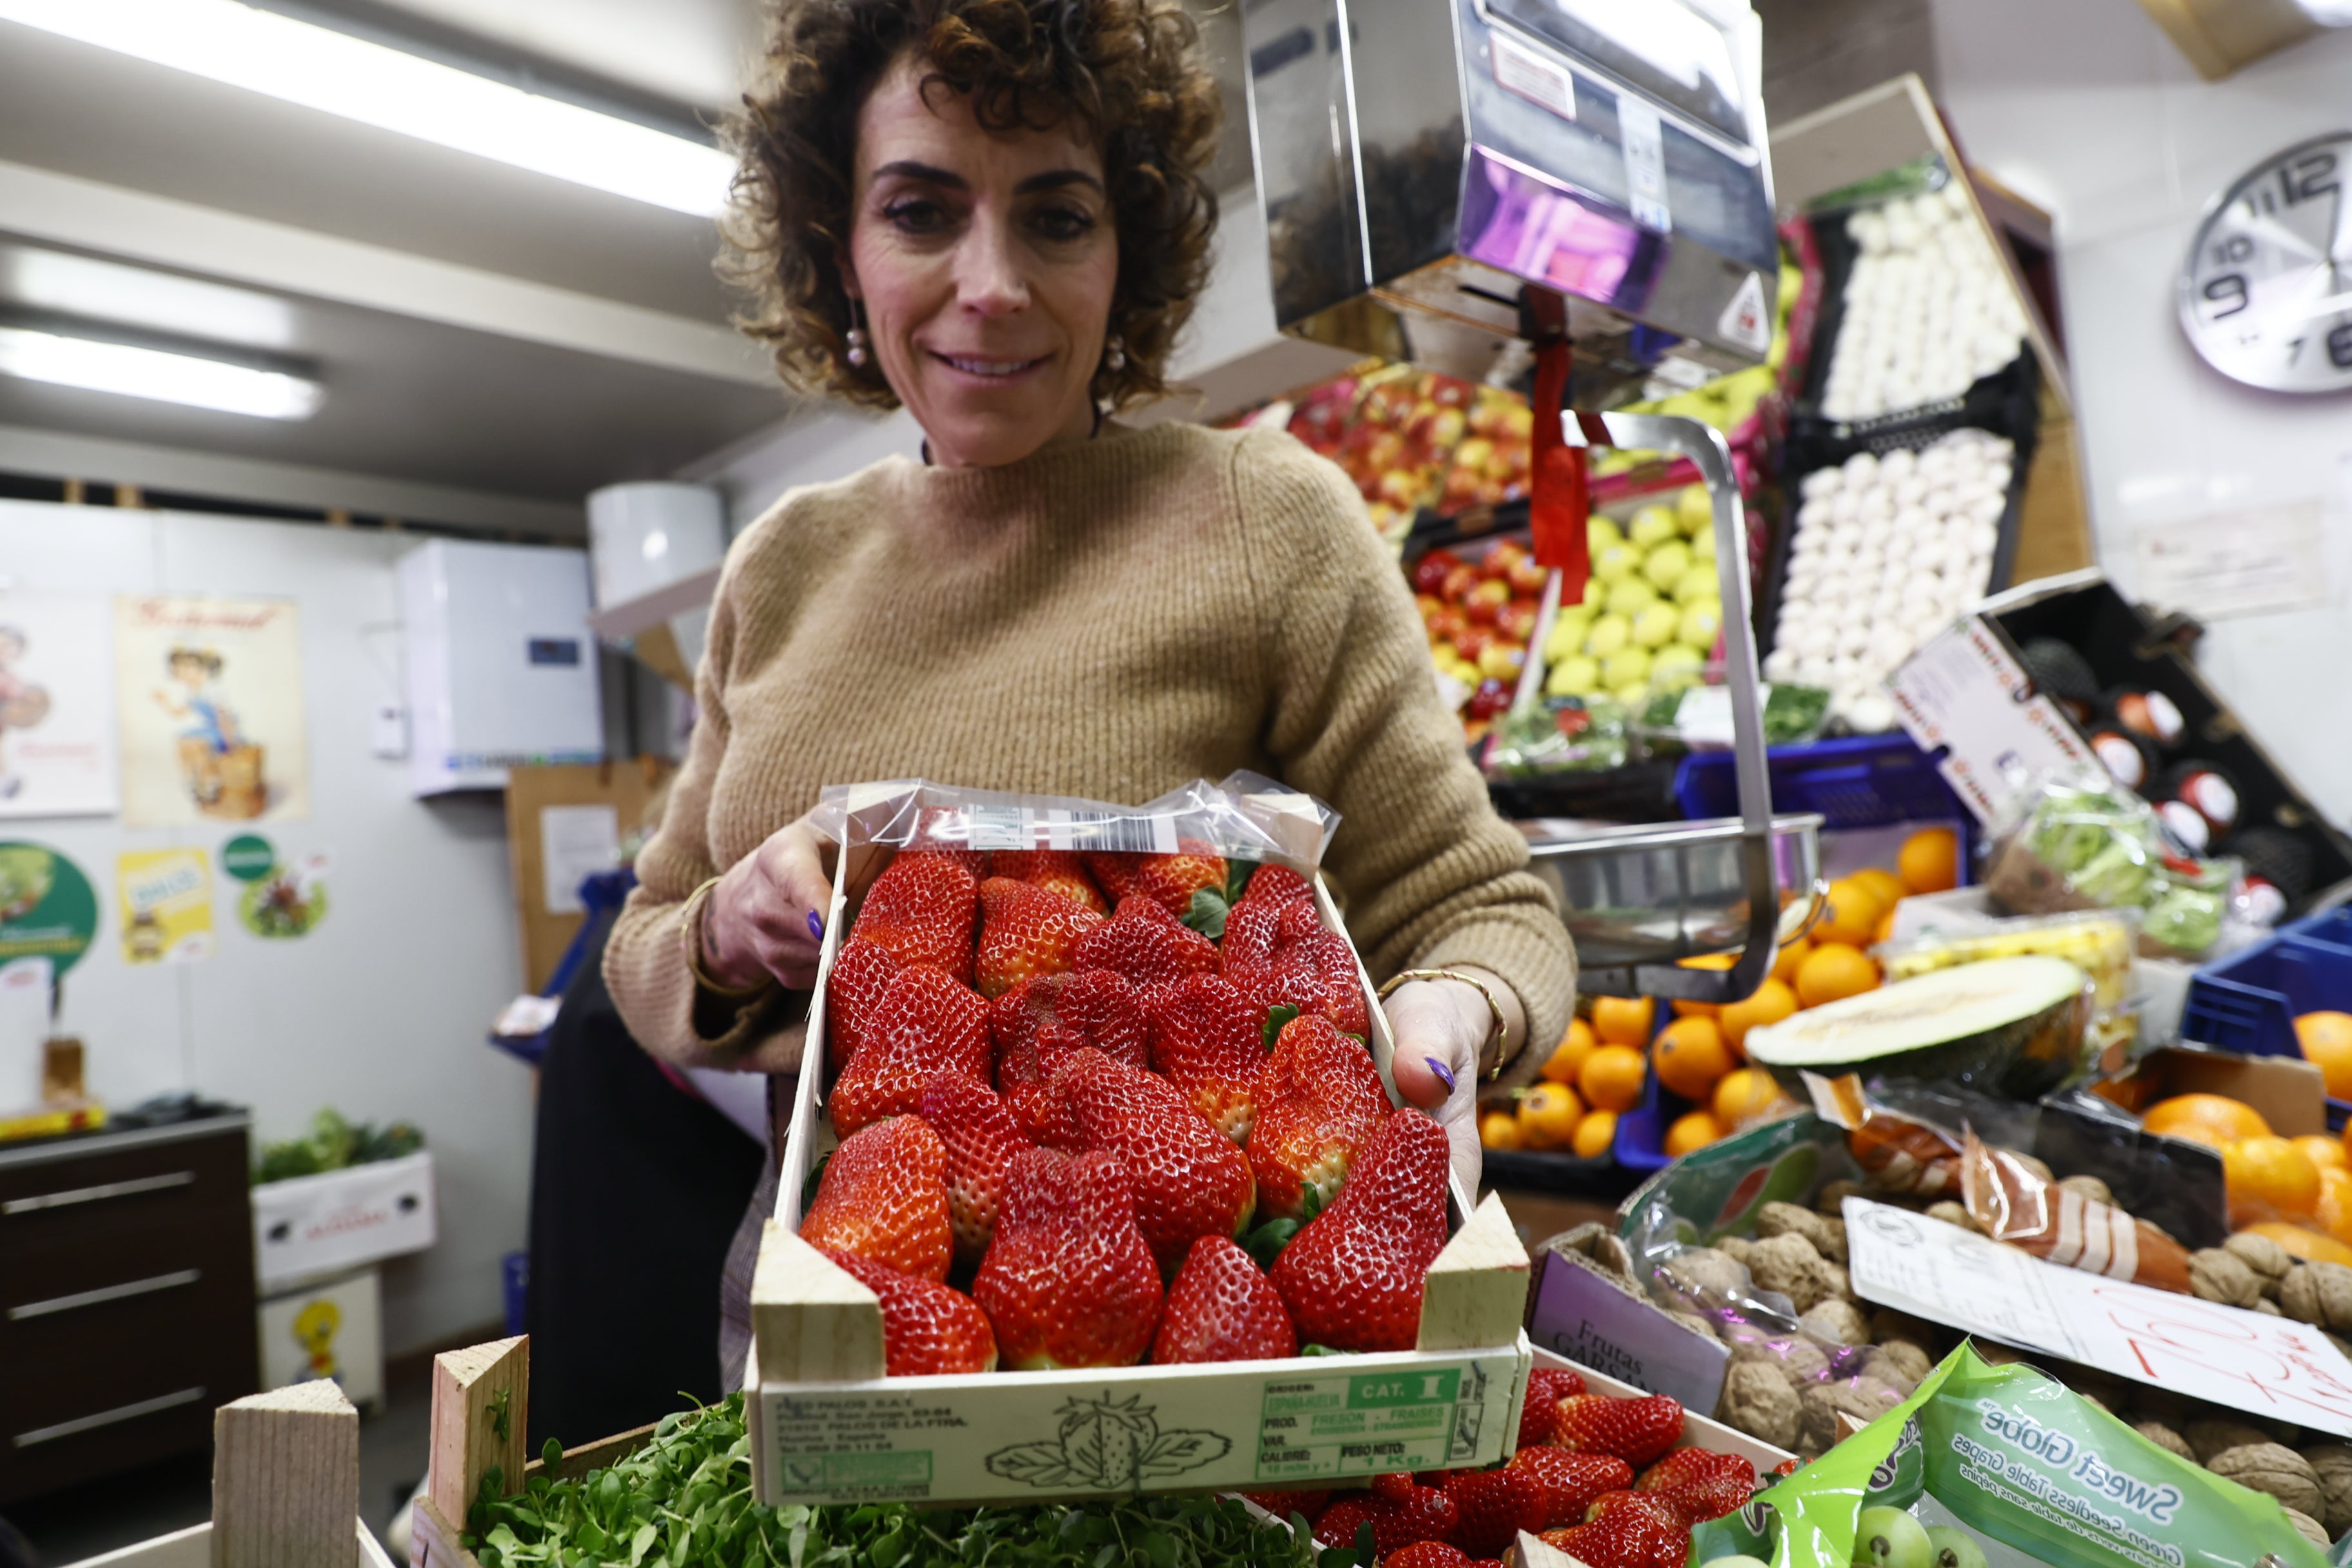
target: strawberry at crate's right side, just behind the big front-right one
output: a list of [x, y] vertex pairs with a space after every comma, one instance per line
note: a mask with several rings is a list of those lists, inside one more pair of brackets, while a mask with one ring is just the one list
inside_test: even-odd
[[1348, 1164], [1388, 1119], [1388, 1091], [1371, 1053], [1329, 1018], [1282, 1025], [1251, 1095], [1249, 1168], [1258, 1178], [1258, 1213], [1296, 1220], [1308, 1192], [1329, 1204]]

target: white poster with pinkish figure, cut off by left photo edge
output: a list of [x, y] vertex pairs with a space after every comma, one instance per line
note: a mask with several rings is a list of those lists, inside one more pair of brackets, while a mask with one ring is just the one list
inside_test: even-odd
[[115, 809], [113, 646], [99, 595], [0, 595], [0, 816]]

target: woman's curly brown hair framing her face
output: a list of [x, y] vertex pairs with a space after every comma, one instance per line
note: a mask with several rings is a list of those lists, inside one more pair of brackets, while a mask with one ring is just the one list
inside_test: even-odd
[[988, 129], [1073, 125], [1101, 148], [1120, 237], [1108, 329], [1127, 364], [1098, 367], [1094, 395], [1120, 409], [1167, 393], [1216, 233], [1218, 96], [1178, 0], [786, 0], [729, 127], [741, 167], [722, 273], [753, 296], [736, 324], [771, 346], [786, 383], [898, 407], [875, 362], [844, 355], [840, 256], [858, 108], [901, 56], [924, 61], [924, 87], [969, 94]]

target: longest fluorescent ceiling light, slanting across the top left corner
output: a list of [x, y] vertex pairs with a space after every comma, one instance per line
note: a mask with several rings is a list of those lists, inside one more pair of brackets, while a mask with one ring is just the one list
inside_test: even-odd
[[0, 0], [0, 19], [694, 216], [717, 148], [238, 0]]

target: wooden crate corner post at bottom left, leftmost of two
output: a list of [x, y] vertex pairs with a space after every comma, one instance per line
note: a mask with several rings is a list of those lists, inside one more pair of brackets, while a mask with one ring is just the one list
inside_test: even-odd
[[360, 1413], [327, 1378], [212, 1413], [212, 1568], [358, 1561]]

